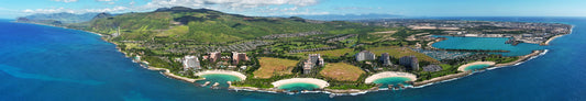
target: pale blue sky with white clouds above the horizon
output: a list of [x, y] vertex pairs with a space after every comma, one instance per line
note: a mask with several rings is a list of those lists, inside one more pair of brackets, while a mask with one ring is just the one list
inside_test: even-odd
[[586, 16], [586, 0], [0, 0], [0, 18], [206, 8], [244, 15]]

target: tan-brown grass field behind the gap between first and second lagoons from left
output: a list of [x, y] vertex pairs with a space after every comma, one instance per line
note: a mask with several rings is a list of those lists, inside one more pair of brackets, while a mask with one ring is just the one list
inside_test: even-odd
[[273, 75], [290, 75], [292, 68], [297, 65], [297, 60], [259, 57], [261, 68], [254, 71], [254, 77], [270, 78]]

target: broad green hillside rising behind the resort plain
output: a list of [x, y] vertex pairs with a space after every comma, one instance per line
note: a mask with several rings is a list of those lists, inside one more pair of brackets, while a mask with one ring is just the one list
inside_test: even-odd
[[97, 18], [86, 23], [69, 25], [102, 34], [114, 34], [114, 41], [144, 41], [156, 37], [164, 42], [231, 42], [252, 40], [270, 34], [324, 32], [340, 24], [362, 26], [347, 22], [321, 22], [301, 18], [259, 18], [229, 14], [209, 9], [183, 7], [162, 8], [153, 12], [124, 13]]

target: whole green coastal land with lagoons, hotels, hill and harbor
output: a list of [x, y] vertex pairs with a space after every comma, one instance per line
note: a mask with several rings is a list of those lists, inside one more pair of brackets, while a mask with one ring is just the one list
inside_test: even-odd
[[317, 21], [184, 7], [59, 20], [24, 16], [16, 22], [99, 34], [141, 66], [202, 87], [333, 94], [421, 87], [518, 65], [548, 52], [435, 46], [452, 38], [489, 38], [517, 48], [550, 45], [573, 27], [419, 19]]

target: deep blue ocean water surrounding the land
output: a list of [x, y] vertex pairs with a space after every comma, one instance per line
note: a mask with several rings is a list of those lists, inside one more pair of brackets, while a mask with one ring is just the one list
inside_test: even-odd
[[562, 22], [574, 32], [544, 56], [418, 89], [329, 98], [202, 88], [141, 68], [99, 36], [0, 21], [0, 101], [13, 100], [586, 100], [586, 18], [427, 18]]

